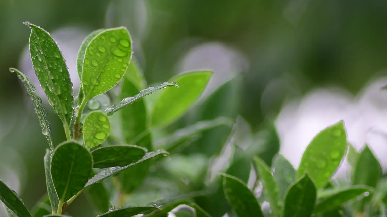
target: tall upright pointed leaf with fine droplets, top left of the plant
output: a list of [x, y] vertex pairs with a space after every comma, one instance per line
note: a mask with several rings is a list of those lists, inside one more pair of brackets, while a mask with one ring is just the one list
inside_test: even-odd
[[36, 76], [65, 127], [73, 114], [73, 90], [67, 65], [60, 49], [50, 34], [41, 27], [25, 23], [31, 28], [29, 51]]

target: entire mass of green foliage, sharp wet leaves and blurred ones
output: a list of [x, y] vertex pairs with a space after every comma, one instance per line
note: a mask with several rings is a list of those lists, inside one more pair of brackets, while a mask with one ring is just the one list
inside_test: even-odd
[[[24, 83], [48, 143], [47, 193], [33, 212], [0, 181], [10, 217], [68, 216], [67, 207], [81, 193], [98, 217], [385, 215], [387, 181], [380, 164], [368, 146], [357, 153], [347, 143], [344, 122], [315, 136], [295, 169], [276, 154], [279, 139], [271, 124], [252, 132], [229, 107], [238, 104], [239, 76], [199, 102], [211, 71], [182, 73], [146, 87], [127, 29], [99, 29], [80, 46], [80, 90], [74, 97], [54, 39], [41, 27], [24, 24], [31, 29], [36, 75], [67, 140], [53, 143], [34, 85], [10, 68]], [[351, 179], [337, 181], [332, 176], [347, 152]], [[214, 159], [228, 164], [214, 166]], [[255, 177], [251, 172], [257, 175], [254, 186], [246, 184]]]

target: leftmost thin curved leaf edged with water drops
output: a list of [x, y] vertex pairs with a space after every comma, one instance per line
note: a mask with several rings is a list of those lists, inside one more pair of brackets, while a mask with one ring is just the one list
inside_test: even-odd
[[35, 113], [38, 115], [39, 125], [42, 127], [42, 134], [46, 136], [46, 141], [50, 146], [50, 149], [53, 151], [54, 146], [51, 138], [50, 122], [48, 122], [48, 120], [46, 119], [47, 112], [42, 107], [42, 99], [38, 97], [38, 95], [36, 95], [35, 86], [29, 81], [27, 75], [24, 75], [21, 71], [15, 68], [10, 68], [9, 70], [11, 72], [16, 72], [17, 77], [19, 77], [19, 79], [24, 83], [24, 86], [26, 87], [28, 92], [28, 96], [33, 102]]

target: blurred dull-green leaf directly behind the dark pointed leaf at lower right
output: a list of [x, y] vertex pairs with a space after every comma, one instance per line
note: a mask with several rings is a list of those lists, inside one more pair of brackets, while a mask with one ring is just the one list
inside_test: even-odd
[[279, 188], [279, 195], [284, 198], [286, 190], [296, 179], [296, 171], [292, 164], [281, 154], [277, 154], [273, 161], [274, 179]]

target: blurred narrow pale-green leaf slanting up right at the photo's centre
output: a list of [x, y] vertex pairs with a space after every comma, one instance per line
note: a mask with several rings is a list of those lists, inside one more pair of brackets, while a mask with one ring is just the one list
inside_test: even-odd
[[178, 146], [181, 145], [183, 141], [186, 141], [193, 136], [221, 125], [227, 125], [231, 127], [232, 124], [233, 120], [229, 119], [228, 117], [217, 117], [213, 120], [202, 120], [183, 129], [179, 129], [171, 136], [159, 139], [158, 141], [154, 142], [154, 144], [156, 147], [160, 146], [171, 152], [178, 148]]

